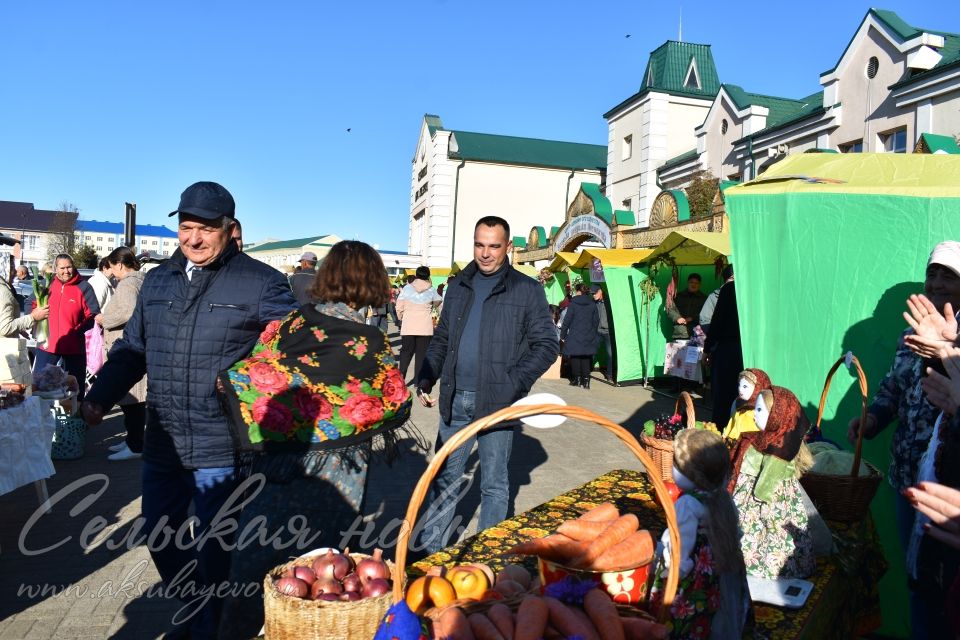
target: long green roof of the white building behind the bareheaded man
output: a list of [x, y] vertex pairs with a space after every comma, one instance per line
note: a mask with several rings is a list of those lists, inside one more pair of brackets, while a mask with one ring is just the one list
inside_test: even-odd
[[598, 144], [560, 142], [498, 136], [490, 133], [452, 131], [457, 150], [451, 158], [477, 162], [500, 162], [561, 169], [595, 169], [607, 167], [607, 147]]

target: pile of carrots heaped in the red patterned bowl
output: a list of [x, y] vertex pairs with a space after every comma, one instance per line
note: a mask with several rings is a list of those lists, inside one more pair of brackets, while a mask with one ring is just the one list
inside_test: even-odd
[[571, 569], [621, 571], [649, 563], [654, 544], [632, 513], [620, 515], [605, 502], [576, 520], [567, 520], [557, 533], [522, 542], [508, 553], [539, 556]]

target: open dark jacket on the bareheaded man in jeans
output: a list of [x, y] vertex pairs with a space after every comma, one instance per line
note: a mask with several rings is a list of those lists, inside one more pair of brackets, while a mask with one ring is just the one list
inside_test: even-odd
[[[502, 279], [483, 304], [480, 370], [477, 372], [477, 418], [510, 406], [527, 395], [533, 383], [557, 359], [557, 329], [539, 282], [506, 265]], [[477, 264], [450, 281], [440, 323], [427, 349], [418, 386], [430, 389], [440, 380], [439, 409], [450, 422], [454, 371], [463, 322], [473, 304], [472, 281]]]

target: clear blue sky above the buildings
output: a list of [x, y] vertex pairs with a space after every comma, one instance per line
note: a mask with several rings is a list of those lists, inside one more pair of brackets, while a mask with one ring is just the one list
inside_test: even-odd
[[[677, 38], [680, 6], [4, 3], [0, 200], [69, 201], [114, 221], [135, 201], [140, 222], [170, 224], [187, 185], [215, 180], [248, 241], [334, 233], [405, 250], [424, 113], [451, 129], [605, 144], [602, 114]], [[722, 82], [789, 98], [819, 90], [869, 8], [756, 6], [685, 2], [683, 39], [713, 45]], [[960, 2], [879, 8], [960, 32]]]

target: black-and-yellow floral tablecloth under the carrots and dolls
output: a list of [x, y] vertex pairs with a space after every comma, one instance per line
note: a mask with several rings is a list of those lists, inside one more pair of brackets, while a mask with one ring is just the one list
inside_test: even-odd
[[[495, 570], [504, 564], [522, 563], [535, 573], [535, 559], [503, 552], [518, 542], [553, 533], [564, 520], [576, 518], [602, 502], [613, 502], [621, 512], [635, 513], [642, 526], [659, 538], [666, 524], [652, 496], [653, 487], [642, 472], [611, 471], [415, 563], [408, 573], [420, 575], [431, 565], [466, 562], [485, 562]], [[877, 584], [886, 571], [886, 562], [873, 522], [828, 524], [840, 551], [818, 560], [813, 592], [804, 607], [790, 610], [755, 605], [754, 629], [745, 637], [848, 640], [879, 628]]]

